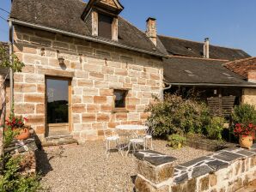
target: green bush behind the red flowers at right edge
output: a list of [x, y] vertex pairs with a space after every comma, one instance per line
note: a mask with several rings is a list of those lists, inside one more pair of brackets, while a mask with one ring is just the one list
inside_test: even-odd
[[255, 107], [249, 104], [235, 106], [234, 111], [232, 113], [232, 123], [234, 124], [234, 126], [236, 123], [256, 124]]

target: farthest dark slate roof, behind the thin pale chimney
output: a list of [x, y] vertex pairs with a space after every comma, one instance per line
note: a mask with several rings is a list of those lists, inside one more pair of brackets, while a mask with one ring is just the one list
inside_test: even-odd
[[[162, 35], [159, 35], [158, 37], [161, 39], [162, 44], [170, 55], [186, 57], [204, 56], [204, 43]], [[210, 58], [233, 61], [247, 57], [251, 56], [249, 56], [245, 51], [239, 49], [210, 45]]]

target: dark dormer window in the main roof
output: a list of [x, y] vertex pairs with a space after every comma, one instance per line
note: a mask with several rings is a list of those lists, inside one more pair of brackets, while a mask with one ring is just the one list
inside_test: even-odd
[[98, 35], [103, 38], [112, 39], [112, 23], [111, 16], [99, 14]]

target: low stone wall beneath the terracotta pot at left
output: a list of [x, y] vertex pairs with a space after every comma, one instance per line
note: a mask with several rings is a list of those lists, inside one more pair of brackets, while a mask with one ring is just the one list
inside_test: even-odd
[[13, 157], [21, 157], [21, 172], [23, 174], [34, 174], [36, 172], [36, 156], [38, 150], [35, 139], [25, 141], [14, 141], [9, 147], [4, 148], [4, 153]]

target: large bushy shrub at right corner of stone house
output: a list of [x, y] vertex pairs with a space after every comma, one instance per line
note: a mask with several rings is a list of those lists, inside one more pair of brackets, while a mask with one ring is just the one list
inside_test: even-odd
[[205, 104], [194, 99], [183, 100], [175, 94], [165, 95], [164, 101], [155, 99], [146, 111], [150, 112], [149, 121], [155, 121], [156, 136], [203, 132], [209, 122], [209, 111]]

